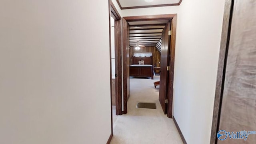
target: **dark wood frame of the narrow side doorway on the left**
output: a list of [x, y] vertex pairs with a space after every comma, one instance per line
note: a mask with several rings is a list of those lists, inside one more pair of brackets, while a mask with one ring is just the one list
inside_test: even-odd
[[[108, 0], [109, 6], [109, 48], [110, 48], [110, 100], [111, 100], [111, 135], [107, 143], [110, 143], [113, 136], [113, 118], [112, 118], [112, 64], [111, 64], [111, 19], [115, 20], [115, 89], [116, 89], [116, 115], [122, 114], [122, 28], [121, 28], [121, 16], [116, 10], [111, 0]], [[121, 97], [121, 99], [120, 99]]]

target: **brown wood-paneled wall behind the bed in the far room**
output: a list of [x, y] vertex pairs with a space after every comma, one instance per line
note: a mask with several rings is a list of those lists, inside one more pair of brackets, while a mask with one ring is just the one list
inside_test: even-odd
[[160, 67], [160, 59], [161, 54], [156, 50], [155, 46], [146, 46], [146, 47], [140, 47], [140, 50], [135, 50], [135, 48], [130, 48], [130, 65], [132, 64], [132, 56], [134, 52], [152, 52], [153, 57], [153, 66], [156, 65], [156, 67]]

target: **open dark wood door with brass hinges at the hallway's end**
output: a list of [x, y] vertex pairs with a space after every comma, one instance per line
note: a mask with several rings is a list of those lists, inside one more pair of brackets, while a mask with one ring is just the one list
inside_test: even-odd
[[164, 111], [167, 113], [167, 97], [168, 97], [168, 84], [169, 84], [169, 71], [167, 66], [170, 63], [170, 36], [168, 32], [171, 24], [168, 22], [162, 32], [162, 49], [161, 49], [161, 72], [160, 72], [160, 90], [159, 90], [159, 101]]

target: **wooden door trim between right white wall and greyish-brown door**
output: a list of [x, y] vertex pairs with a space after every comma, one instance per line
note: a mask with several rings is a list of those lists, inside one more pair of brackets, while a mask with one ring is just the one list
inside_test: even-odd
[[226, 63], [228, 58], [228, 47], [230, 40], [233, 6], [234, 0], [225, 1], [210, 144], [217, 144], [218, 140], [216, 134], [218, 132], [220, 125], [220, 113], [226, 74]]

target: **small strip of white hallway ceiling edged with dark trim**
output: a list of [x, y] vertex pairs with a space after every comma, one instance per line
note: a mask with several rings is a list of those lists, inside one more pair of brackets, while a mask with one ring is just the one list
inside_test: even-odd
[[179, 6], [182, 0], [116, 0], [121, 9]]

